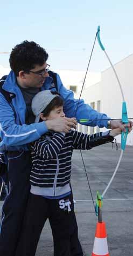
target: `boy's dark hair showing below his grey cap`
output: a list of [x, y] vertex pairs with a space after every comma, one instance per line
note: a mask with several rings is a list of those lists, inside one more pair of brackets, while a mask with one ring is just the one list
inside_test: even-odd
[[[50, 112], [55, 109], [55, 107], [60, 107], [60, 106], [64, 105], [64, 99], [61, 98], [61, 96], [58, 92], [56, 92], [56, 91], [52, 92], [51, 91], [51, 93], [53, 95], [59, 95], [59, 96], [53, 98], [51, 100], [50, 104], [47, 105], [46, 109], [44, 111], [42, 111], [44, 117], [47, 117], [48, 114], [50, 114]], [[39, 122], [40, 121], [42, 122], [41, 118], [40, 118]]]

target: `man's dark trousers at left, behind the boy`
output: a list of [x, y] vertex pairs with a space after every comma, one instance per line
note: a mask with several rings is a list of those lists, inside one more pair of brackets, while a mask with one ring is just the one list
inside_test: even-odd
[[10, 192], [2, 209], [0, 255], [15, 256], [30, 191], [30, 152], [9, 152]]

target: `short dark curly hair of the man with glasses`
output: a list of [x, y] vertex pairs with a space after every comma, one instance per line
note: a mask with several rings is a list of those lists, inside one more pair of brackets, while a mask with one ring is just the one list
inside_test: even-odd
[[48, 53], [39, 44], [24, 41], [12, 49], [9, 62], [11, 69], [18, 76], [20, 70], [29, 72], [35, 65], [43, 65], [48, 58]]

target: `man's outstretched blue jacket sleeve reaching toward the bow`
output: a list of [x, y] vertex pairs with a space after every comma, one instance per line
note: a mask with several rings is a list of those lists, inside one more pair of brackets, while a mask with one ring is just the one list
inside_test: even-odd
[[[79, 119], [107, 119], [101, 121], [90, 121], [86, 122], [87, 126], [99, 126], [99, 127], [107, 127], [107, 121], [109, 117], [107, 117], [104, 113], [99, 113], [96, 110], [92, 109], [88, 104], [85, 104], [83, 99], [74, 99], [73, 91], [67, 90], [65, 86], [62, 84], [59, 75], [57, 75], [57, 83], [58, 83], [58, 91], [61, 96], [65, 100], [64, 111], [67, 117], [76, 117]], [[78, 110], [76, 108], [78, 106]], [[75, 116], [76, 112], [76, 116]]]

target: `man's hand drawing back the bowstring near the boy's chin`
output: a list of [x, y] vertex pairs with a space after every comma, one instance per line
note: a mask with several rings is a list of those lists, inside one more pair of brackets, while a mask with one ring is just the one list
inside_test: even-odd
[[71, 128], [76, 129], [76, 118], [59, 117], [52, 120], [45, 121], [47, 129], [56, 132], [68, 133]]

